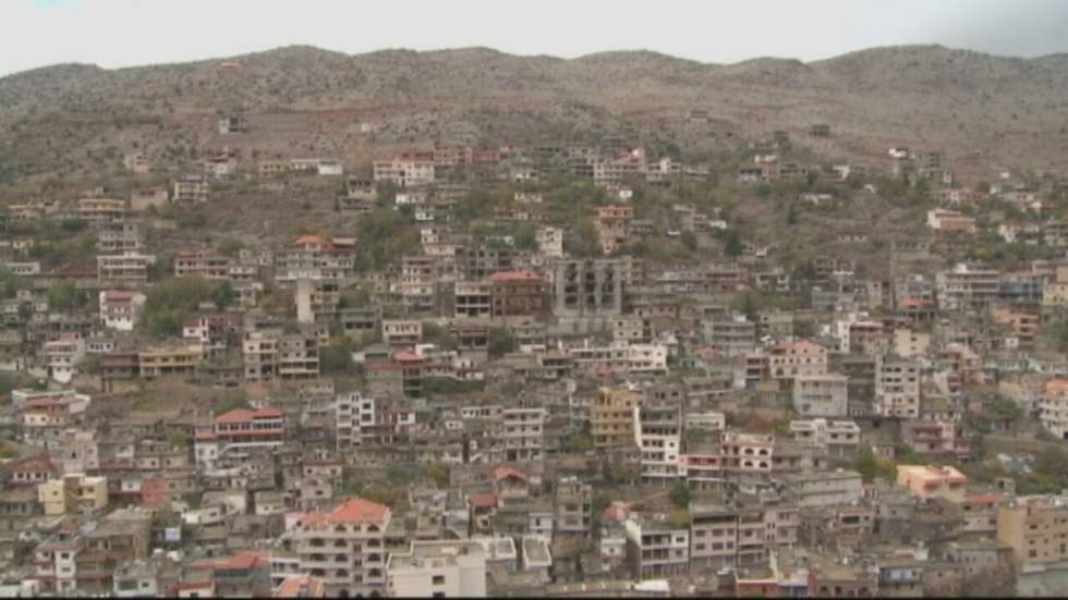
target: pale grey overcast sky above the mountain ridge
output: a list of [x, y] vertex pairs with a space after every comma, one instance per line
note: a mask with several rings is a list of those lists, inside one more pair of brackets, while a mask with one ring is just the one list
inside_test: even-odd
[[359, 53], [485, 46], [572, 58], [648, 49], [702, 62], [804, 61], [899, 44], [1068, 51], [1063, 0], [0, 0], [0, 75], [305, 44]]

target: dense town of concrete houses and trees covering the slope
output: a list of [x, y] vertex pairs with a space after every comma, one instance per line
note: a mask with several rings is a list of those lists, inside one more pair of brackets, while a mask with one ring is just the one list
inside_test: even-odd
[[265, 126], [4, 196], [0, 596], [1068, 585], [1064, 174]]

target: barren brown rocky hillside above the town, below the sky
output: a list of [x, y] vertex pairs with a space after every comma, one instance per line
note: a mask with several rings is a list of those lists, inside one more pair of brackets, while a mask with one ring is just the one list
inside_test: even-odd
[[[562, 60], [484, 48], [347, 56], [311, 47], [119, 70], [56, 65], [0, 78], [0, 160], [33, 164], [28, 173], [74, 168], [70, 156], [135, 142], [155, 151], [210, 145], [220, 142], [211, 128], [222, 111], [250, 115], [254, 130], [257, 115], [266, 119], [239, 146], [353, 161], [371, 147], [450, 138], [643, 127], [682, 135], [691, 109], [743, 134], [828, 123], [836, 135], [818, 150], [846, 158], [910, 144], [943, 149], [966, 170], [1068, 171], [1068, 56], [1009, 59], [936, 46], [729, 65], [647, 51]], [[361, 136], [368, 131], [361, 124], [375, 135]]]

